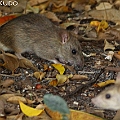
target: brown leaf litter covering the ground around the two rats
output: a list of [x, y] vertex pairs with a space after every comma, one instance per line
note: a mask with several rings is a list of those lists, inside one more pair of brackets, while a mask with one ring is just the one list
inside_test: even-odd
[[[16, 56], [4, 52], [0, 54], [0, 58], [4, 61], [0, 63], [0, 66], [2, 66], [0, 69], [0, 85], [2, 87], [0, 88], [0, 106], [2, 106], [2, 108], [0, 109], [0, 115], [6, 116], [6, 118], [8, 117], [9, 112], [6, 112], [4, 108], [4, 104], [6, 103], [9, 103], [7, 105], [8, 108], [10, 108], [10, 106], [12, 105], [17, 110], [18, 101], [21, 100], [27, 104], [32, 105], [32, 107], [35, 108], [36, 104], [42, 103], [43, 96], [46, 93], [53, 93], [64, 98], [69, 108], [79, 110], [74, 112], [75, 115], [73, 115], [73, 119], [79, 118], [79, 115], [79, 119], [87, 119], [88, 117], [88, 119], [90, 120], [90, 114], [83, 113], [82, 116], [82, 112], [80, 110], [88, 112], [88, 108], [94, 109], [95, 107], [91, 103], [91, 98], [102, 91], [106, 87], [106, 85], [114, 83], [113, 80], [116, 77], [114, 71], [119, 71], [119, 27], [115, 28], [115, 24], [113, 26], [108, 24], [109, 21], [112, 21], [119, 26], [119, 10], [114, 8], [119, 7], [119, 1], [116, 0], [112, 2], [112, 4], [111, 2], [103, 3], [102, 1], [100, 1], [100, 3], [96, 4], [95, 0], [90, 0], [89, 2], [87, 2], [86, 0], [65, 0], [64, 2], [62, 0], [30, 0], [27, 5], [26, 3], [26, 1], [22, 1], [17, 7], [16, 11], [14, 7], [10, 7], [9, 9], [11, 9], [12, 12], [15, 11], [17, 13], [21, 13], [21, 11], [24, 10], [25, 12], [32, 11], [34, 13], [39, 13], [40, 11], [43, 14], [48, 12], [46, 16], [57, 23], [63, 22], [61, 25], [63, 25], [65, 29], [71, 30], [72, 27], [73, 29], [77, 27], [79, 29], [77, 37], [80, 38], [83, 52], [85, 52], [88, 56], [85, 57], [84, 69], [82, 71], [76, 71], [74, 68], [70, 68], [71, 66], [67, 66], [64, 69], [62, 68], [62, 70], [60, 69], [60, 67], [58, 67], [59, 69], [56, 70], [56, 68], [54, 68], [51, 63], [41, 60], [33, 54], [30, 54], [27, 57], [34, 60], [36, 66], [34, 66], [31, 61], [28, 61], [27, 59], [19, 60], [18, 58], [16, 58]], [[95, 5], [95, 10], [92, 10], [92, 5]], [[89, 9], [87, 9], [88, 6]], [[73, 8], [74, 10], [79, 12], [74, 13]], [[87, 12], [88, 15], [92, 17], [92, 19], [83, 19], [86, 14], [84, 14], [84, 16], [83, 14], [80, 14], [82, 10], [85, 11], [85, 13]], [[6, 11], [6, 9], [3, 9], [3, 12], [4, 11]], [[75, 21], [77, 20], [77, 22], [74, 22], [72, 18]], [[65, 19], [67, 22], [65, 22]], [[0, 21], [0, 23], [3, 24], [2, 21], [4, 21], [4, 18], [2, 18]], [[98, 25], [90, 26], [90, 23], [94, 23], [94, 21], [97, 21], [96, 23], [98, 23]], [[79, 35], [82, 35], [82, 37]], [[89, 38], [89, 36], [91, 36], [91, 38]], [[107, 42], [104, 44], [103, 41], [105, 39], [107, 40]], [[114, 40], [117, 40], [118, 46], [113, 44]], [[112, 50], [113, 54], [111, 54], [110, 52], [105, 52], [109, 49]], [[96, 55], [90, 56], [90, 54], [92, 53], [96, 53]], [[110, 60], [105, 59], [105, 57], [107, 56], [109, 56]], [[12, 75], [8, 76], [7, 74], [11, 74], [11, 72], [8, 71], [11, 71]], [[21, 75], [15, 76], [16, 73], [21, 73]], [[36, 73], [37, 75], [35, 75]], [[57, 80], [58, 77], [56, 78], [56, 75], [58, 75], [59, 73], [61, 74], [60, 76], [62, 76], [62, 79], [60, 77]], [[68, 76], [71, 75], [71, 73], [74, 73], [75, 75], [69, 78]], [[8, 79], [8, 77], [10, 78]], [[26, 82], [28, 80], [30, 83]], [[52, 80], [55, 83], [50, 85]], [[107, 80], [111, 81], [107, 82]], [[58, 83], [62, 84], [59, 85]], [[96, 85], [96, 83], [97, 87], [93, 86]], [[101, 84], [99, 85], [99, 83], [102, 83], [102, 86]], [[37, 89], [37, 87], [35, 87], [36, 85], [41, 85], [42, 87], [40, 89]], [[8, 94], [8, 91], [10, 91], [11, 93]], [[2, 100], [5, 100], [6, 103], [2, 102]], [[89, 104], [89, 106], [87, 106], [86, 104]], [[17, 114], [19, 113], [20, 111]], [[50, 114], [51, 112], [48, 113]], [[88, 113], [90, 113], [90, 111]], [[114, 118], [116, 112], [104, 110], [102, 111], [102, 113], [104, 115], [101, 116], [101, 114], [97, 114], [97, 116], [101, 116], [102, 118], [107, 118], [111, 120]], [[23, 114], [20, 113], [19, 116], [17, 114], [15, 114], [15, 118], [24, 119]], [[96, 113], [93, 112], [92, 114]], [[55, 115], [53, 114], [51, 116], [54, 117]], [[36, 117], [38, 117], [37, 119], [39, 119], [39, 116]], [[92, 119], [93, 117], [95, 116], [92, 116]], [[94, 119], [97, 120], [102, 118]]]

